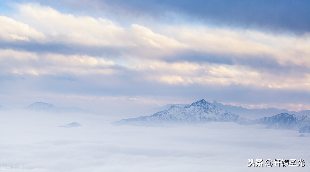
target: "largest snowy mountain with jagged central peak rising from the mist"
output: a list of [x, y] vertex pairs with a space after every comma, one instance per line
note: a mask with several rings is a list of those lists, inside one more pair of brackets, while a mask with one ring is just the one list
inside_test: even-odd
[[251, 123], [251, 120], [219, 109], [213, 104], [206, 102], [204, 99], [185, 107], [173, 105], [168, 110], [157, 112], [151, 116], [122, 119], [112, 123], [114, 125], [132, 126], [169, 126], [206, 123], [211, 121], [235, 122], [242, 125]]

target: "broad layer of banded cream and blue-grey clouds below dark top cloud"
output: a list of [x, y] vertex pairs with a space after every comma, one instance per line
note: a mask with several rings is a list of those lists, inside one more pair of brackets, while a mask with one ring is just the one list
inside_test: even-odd
[[[0, 16], [4, 95], [13, 92], [12, 85], [24, 83], [20, 92], [178, 96], [248, 106], [277, 101], [302, 107], [310, 104], [304, 101], [310, 92], [307, 31], [275, 34], [203, 23], [149, 24], [141, 22], [143, 18], [139, 24], [126, 24], [104, 16], [72, 15], [39, 3], [15, 3], [13, 7], [15, 13]], [[178, 16], [182, 15], [176, 13], [175, 18]], [[239, 98], [225, 100], [227, 88], [231, 93], [226, 96]], [[251, 93], [253, 99], [240, 99], [237, 92], [241, 97]], [[262, 94], [267, 92], [275, 97], [266, 100], [263, 96], [271, 95]], [[288, 93], [304, 96], [284, 101], [281, 95]]]

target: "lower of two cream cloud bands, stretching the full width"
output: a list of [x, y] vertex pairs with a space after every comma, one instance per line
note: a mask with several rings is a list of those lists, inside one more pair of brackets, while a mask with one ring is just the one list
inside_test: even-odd
[[[135, 72], [130, 80], [160, 82], [169, 85], [199, 84], [204, 86], [227, 86], [241, 84], [254, 88], [310, 90], [310, 75], [295, 72], [277, 75], [255, 71], [242, 65], [219, 65], [196, 62], [167, 63], [159, 60], [135, 61], [137, 65], [118, 65], [100, 57], [88, 55], [63, 55], [0, 49], [0, 62], [5, 64], [2, 73], [39, 75], [91, 76], [116, 75]], [[298, 75], [299, 77], [296, 77]]]

